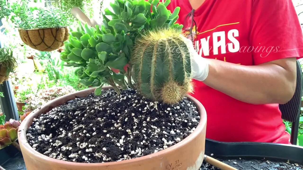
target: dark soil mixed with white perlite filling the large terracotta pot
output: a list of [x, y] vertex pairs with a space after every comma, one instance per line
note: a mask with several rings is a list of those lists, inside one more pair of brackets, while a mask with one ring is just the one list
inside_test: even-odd
[[136, 90], [103, 90], [57, 106], [27, 130], [38, 152], [72, 162], [114, 162], [166, 149], [189, 136], [200, 121], [195, 104], [146, 100]]

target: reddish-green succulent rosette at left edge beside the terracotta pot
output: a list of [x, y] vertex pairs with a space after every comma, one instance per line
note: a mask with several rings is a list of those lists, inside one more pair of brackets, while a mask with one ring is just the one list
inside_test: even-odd
[[18, 139], [20, 122], [10, 119], [4, 125], [0, 125], [0, 149], [15, 142]]

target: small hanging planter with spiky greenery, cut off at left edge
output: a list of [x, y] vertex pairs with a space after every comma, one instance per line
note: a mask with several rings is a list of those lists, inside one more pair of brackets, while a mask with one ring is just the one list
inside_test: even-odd
[[17, 62], [9, 48], [0, 48], [0, 84], [8, 80], [10, 73], [14, 73]]

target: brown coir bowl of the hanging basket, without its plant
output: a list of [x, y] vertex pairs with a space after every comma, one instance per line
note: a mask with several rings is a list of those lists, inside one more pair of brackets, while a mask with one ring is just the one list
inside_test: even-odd
[[39, 51], [57, 50], [68, 40], [67, 27], [19, 29], [19, 34], [26, 45]]

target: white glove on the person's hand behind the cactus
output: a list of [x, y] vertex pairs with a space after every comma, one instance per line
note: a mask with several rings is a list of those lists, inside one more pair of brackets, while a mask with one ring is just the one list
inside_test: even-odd
[[201, 57], [197, 51], [194, 49], [192, 41], [188, 38], [182, 36], [188, 50], [190, 52], [191, 57], [191, 72], [193, 75], [193, 79], [198, 81], [204, 81], [208, 76], [208, 62], [205, 58]]

